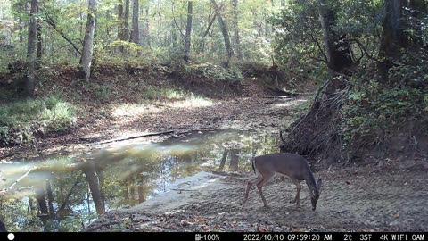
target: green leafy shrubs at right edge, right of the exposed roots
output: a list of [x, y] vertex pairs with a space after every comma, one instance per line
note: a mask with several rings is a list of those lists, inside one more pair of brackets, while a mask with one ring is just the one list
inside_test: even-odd
[[344, 145], [383, 142], [385, 133], [428, 120], [428, 72], [424, 60], [404, 55], [389, 70], [388, 85], [355, 77], [342, 111]]

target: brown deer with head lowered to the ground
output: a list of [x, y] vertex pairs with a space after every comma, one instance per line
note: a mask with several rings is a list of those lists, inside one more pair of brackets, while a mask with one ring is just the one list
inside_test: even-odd
[[278, 153], [278, 154], [265, 154], [254, 157], [250, 160], [252, 170], [256, 175], [255, 178], [247, 180], [247, 187], [241, 205], [245, 204], [248, 200], [250, 188], [255, 184], [259, 189], [259, 195], [265, 207], [268, 207], [266, 198], [263, 195], [262, 187], [268, 183], [275, 174], [288, 176], [297, 187], [297, 193], [294, 199], [290, 202], [296, 203], [300, 208], [300, 181], [305, 180], [309, 187], [310, 201], [312, 203], [312, 210], [317, 208], [317, 201], [321, 192], [323, 182], [318, 179], [315, 182], [314, 174], [309, 169], [308, 162], [304, 157], [299, 154], [291, 153]]

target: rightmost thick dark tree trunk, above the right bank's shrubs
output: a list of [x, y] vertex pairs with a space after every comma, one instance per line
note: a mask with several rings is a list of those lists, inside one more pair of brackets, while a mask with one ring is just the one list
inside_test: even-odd
[[388, 70], [394, 59], [399, 58], [399, 49], [405, 47], [406, 37], [401, 26], [403, 0], [385, 0], [382, 42], [379, 49], [379, 75], [383, 82], [388, 79]]

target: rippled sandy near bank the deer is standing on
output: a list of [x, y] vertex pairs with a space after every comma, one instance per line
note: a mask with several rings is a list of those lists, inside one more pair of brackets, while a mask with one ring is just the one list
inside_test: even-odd
[[295, 194], [290, 179], [268, 183], [270, 207], [264, 208], [255, 187], [239, 205], [251, 173], [200, 173], [165, 195], [107, 212], [87, 231], [426, 231], [426, 163], [390, 160], [317, 172], [324, 188], [315, 212], [306, 185], [302, 207], [289, 203]]

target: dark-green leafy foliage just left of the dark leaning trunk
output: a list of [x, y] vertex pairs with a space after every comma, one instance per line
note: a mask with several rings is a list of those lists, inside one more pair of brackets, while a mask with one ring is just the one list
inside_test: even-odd
[[317, 1], [291, 1], [272, 18], [276, 62], [297, 79], [325, 79], [323, 32]]

